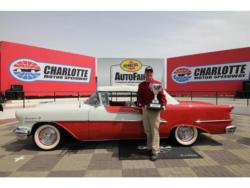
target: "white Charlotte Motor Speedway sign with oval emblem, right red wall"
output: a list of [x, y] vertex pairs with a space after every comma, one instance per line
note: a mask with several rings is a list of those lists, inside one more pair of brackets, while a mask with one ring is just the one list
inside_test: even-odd
[[226, 63], [194, 67], [177, 67], [172, 71], [172, 79], [179, 84], [189, 82], [214, 82], [248, 80], [250, 62]]

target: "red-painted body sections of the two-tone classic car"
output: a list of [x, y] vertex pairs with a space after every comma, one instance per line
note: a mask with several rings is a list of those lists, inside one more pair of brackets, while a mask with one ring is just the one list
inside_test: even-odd
[[[126, 106], [106, 106], [110, 113], [136, 113], [141, 109]], [[225, 128], [232, 124], [229, 105], [214, 105], [205, 102], [183, 101], [180, 104], [167, 104], [161, 112], [160, 136], [169, 137], [177, 126], [193, 126], [202, 132], [224, 134]], [[142, 120], [140, 121], [84, 121], [55, 122], [78, 140], [119, 140], [144, 138]]]

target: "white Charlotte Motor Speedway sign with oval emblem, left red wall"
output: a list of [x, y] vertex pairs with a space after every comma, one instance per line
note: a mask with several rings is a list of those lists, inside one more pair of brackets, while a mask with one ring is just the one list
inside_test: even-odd
[[21, 81], [83, 82], [90, 81], [91, 69], [78, 66], [18, 59], [10, 65], [11, 75]]

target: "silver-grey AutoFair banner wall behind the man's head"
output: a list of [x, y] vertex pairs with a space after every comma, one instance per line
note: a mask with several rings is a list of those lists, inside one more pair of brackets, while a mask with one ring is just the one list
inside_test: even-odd
[[154, 69], [154, 77], [165, 86], [165, 59], [160, 58], [98, 58], [98, 85], [138, 85], [145, 80], [147, 66]]

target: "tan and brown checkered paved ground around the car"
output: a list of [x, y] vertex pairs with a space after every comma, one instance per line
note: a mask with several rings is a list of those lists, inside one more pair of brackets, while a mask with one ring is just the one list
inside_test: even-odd
[[43, 152], [17, 141], [14, 119], [0, 121], [0, 177], [249, 177], [250, 116], [234, 115], [234, 135], [202, 135], [193, 149], [202, 159], [118, 159], [118, 142], [72, 142]]

